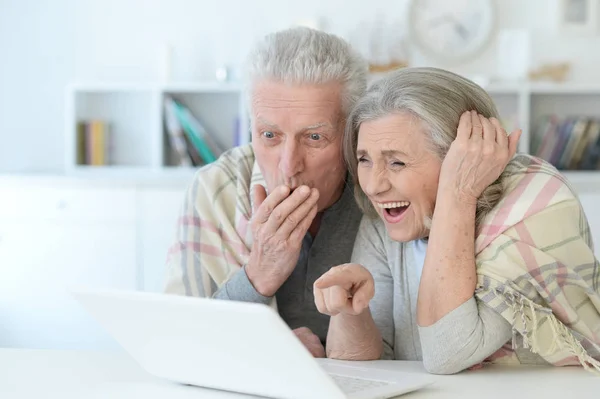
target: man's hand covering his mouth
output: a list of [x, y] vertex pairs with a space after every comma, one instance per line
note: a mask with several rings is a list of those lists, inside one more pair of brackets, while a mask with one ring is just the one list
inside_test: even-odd
[[279, 186], [269, 196], [262, 186], [253, 193], [254, 241], [246, 265], [248, 279], [264, 296], [273, 296], [294, 270], [302, 240], [317, 215], [319, 191]]

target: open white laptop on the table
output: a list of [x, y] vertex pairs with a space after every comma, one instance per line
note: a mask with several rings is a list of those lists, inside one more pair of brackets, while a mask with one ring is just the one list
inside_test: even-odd
[[315, 359], [267, 305], [140, 291], [72, 294], [144, 370], [177, 383], [268, 398], [375, 399], [432, 382], [425, 372]]

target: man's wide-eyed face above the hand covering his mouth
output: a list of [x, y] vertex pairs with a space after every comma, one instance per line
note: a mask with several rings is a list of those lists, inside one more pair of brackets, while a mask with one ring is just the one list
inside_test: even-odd
[[319, 190], [319, 211], [344, 187], [341, 85], [262, 81], [252, 95], [252, 146], [268, 192], [279, 185]]

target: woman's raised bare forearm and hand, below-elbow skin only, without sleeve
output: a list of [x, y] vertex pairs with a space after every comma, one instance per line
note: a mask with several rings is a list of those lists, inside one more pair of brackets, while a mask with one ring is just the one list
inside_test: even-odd
[[417, 323], [427, 327], [475, 293], [475, 211], [483, 191], [516, 152], [519, 132], [474, 111], [459, 121], [442, 163], [429, 245], [419, 286]]

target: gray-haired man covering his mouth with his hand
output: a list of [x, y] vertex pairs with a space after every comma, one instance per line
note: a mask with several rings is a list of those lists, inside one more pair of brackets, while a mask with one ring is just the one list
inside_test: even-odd
[[313, 283], [350, 261], [361, 212], [342, 157], [366, 62], [308, 28], [267, 36], [251, 53], [252, 144], [201, 168], [186, 193], [165, 291], [274, 304], [314, 356], [329, 316]]

